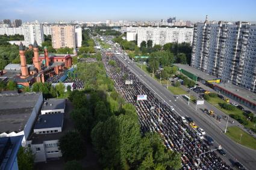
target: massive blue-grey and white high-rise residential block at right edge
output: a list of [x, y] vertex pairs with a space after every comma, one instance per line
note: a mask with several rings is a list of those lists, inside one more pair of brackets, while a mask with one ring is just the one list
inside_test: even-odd
[[249, 22], [196, 23], [191, 66], [256, 92], [256, 25]]

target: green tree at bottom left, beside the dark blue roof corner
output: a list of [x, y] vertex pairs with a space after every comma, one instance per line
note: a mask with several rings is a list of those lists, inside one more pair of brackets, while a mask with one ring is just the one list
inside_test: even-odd
[[20, 170], [34, 169], [34, 154], [30, 148], [20, 147], [17, 154], [17, 163]]

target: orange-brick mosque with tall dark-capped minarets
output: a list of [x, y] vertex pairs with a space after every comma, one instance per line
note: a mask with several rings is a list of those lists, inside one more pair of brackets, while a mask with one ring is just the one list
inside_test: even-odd
[[[20, 64], [8, 64], [0, 73], [2, 80], [14, 80], [17, 85], [28, 87], [34, 82], [45, 82], [48, 77], [59, 74], [60, 71], [72, 67], [72, 56], [56, 54], [49, 55], [47, 47], [44, 48], [44, 54], [39, 55], [39, 46], [36, 40], [34, 44], [28, 46], [28, 50], [33, 50], [33, 64], [27, 65], [25, 57], [25, 46], [20, 42], [19, 56]], [[2, 74], [2, 75], [1, 75]]]

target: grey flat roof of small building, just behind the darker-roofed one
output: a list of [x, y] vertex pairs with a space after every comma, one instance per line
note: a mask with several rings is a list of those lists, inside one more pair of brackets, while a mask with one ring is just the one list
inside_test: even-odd
[[48, 99], [43, 103], [41, 111], [65, 109], [66, 99]]

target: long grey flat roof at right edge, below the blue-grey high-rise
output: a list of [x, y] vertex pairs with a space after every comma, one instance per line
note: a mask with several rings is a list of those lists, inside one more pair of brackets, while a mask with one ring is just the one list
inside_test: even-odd
[[213, 83], [213, 84], [216, 85], [217, 87], [225, 89], [226, 91], [229, 91], [230, 93], [236, 94], [237, 96], [240, 96], [243, 99], [246, 99], [249, 102], [252, 102], [256, 105], [256, 94], [249, 90], [246, 90], [242, 87], [238, 87], [231, 83]]

